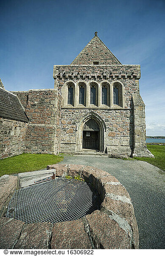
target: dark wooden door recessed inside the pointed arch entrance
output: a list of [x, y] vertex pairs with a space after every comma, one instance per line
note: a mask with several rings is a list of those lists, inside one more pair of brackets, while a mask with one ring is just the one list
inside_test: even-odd
[[83, 149], [100, 150], [100, 128], [94, 119], [89, 119], [83, 127]]

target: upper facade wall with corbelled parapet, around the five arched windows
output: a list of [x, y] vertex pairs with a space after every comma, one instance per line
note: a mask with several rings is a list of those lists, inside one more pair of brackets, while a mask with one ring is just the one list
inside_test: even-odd
[[[53, 78], [55, 79], [55, 88], [62, 92], [63, 98], [67, 97], [64, 87], [70, 81], [75, 85], [75, 92], [76, 86], [80, 82], [89, 85], [90, 82], [95, 81], [98, 87], [101, 87], [103, 82], [107, 82], [110, 87], [114, 82], [119, 82], [123, 87], [123, 107], [130, 108], [131, 94], [139, 93], [140, 65], [56, 65], [53, 70]], [[110, 91], [110, 94], [112, 107], [113, 90]], [[77, 96], [76, 93], [75, 96]], [[87, 97], [89, 97], [89, 93], [87, 93]], [[62, 106], [64, 107], [64, 103]]]

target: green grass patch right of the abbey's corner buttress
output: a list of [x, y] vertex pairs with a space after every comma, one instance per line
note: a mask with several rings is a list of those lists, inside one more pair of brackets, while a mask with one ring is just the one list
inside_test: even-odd
[[150, 157], [135, 157], [137, 160], [146, 161], [159, 167], [165, 171], [165, 146], [163, 145], [147, 145], [147, 148], [155, 158]]

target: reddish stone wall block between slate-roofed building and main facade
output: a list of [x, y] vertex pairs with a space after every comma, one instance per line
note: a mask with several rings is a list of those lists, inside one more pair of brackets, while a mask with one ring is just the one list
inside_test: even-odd
[[27, 153], [57, 154], [60, 150], [61, 96], [56, 89], [14, 92], [28, 116]]

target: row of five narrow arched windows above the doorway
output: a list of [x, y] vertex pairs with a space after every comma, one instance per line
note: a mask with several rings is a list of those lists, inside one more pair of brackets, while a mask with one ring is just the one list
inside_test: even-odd
[[[113, 96], [111, 98], [111, 95]], [[92, 82], [89, 85], [89, 104], [98, 106], [99, 96], [98, 96], [98, 84]], [[122, 107], [122, 86], [120, 83], [113, 84], [112, 88], [108, 83], [101, 85], [101, 95], [100, 95], [100, 105], [110, 106], [110, 102], [113, 101], [113, 105]], [[75, 98], [75, 86], [73, 83], [67, 84], [67, 105], [74, 106]], [[86, 106], [87, 103], [87, 87], [86, 84], [78, 84], [78, 105]], [[111, 104], [112, 105], [112, 104]]]

